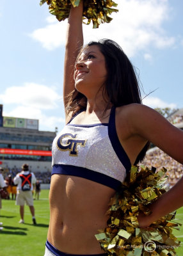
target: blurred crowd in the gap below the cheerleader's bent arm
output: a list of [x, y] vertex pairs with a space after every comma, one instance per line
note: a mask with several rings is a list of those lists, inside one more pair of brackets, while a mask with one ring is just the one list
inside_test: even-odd
[[148, 168], [154, 166], [157, 170], [160, 170], [162, 167], [166, 168], [169, 188], [171, 188], [183, 175], [182, 164], [175, 161], [157, 147], [148, 151], [141, 164], [148, 166]]

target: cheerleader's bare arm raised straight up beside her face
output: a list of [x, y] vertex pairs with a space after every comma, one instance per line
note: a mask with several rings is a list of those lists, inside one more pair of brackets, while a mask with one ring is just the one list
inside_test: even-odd
[[[63, 102], [67, 107], [67, 95], [74, 90], [74, 65], [77, 54], [83, 46], [83, 0], [78, 7], [71, 7], [68, 17], [66, 44], [65, 44], [65, 63], [63, 77]], [[67, 114], [66, 114], [67, 118]]]

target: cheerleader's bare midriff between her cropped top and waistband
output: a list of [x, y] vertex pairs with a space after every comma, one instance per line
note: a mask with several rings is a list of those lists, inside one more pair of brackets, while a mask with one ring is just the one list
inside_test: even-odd
[[114, 189], [92, 180], [52, 175], [49, 243], [65, 253], [104, 253], [95, 234], [107, 225], [106, 211], [114, 194]]

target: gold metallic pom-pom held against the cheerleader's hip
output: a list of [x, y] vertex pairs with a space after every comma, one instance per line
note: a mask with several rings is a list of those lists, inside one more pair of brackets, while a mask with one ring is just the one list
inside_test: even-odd
[[180, 241], [173, 236], [173, 228], [181, 224], [175, 212], [160, 218], [148, 228], [139, 228], [139, 210], [150, 214], [148, 205], [166, 192], [166, 169], [132, 166], [125, 182], [110, 203], [109, 220], [105, 230], [95, 235], [102, 250], [114, 256], [176, 256]]

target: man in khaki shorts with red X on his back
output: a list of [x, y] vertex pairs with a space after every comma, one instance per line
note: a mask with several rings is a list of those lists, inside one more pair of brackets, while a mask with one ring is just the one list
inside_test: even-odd
[[24, 204], [26, 202], [29, 205], [29, 209], [33, 216], [33, 224], [36, 225], [35, 219], [35, 207], [33, 206], [33, 184], [36, 183], [36, 177], [33, 172], [29, 172], [28, 164], [22, 165], [22, 172], [18, 173], [13, 179], [15, 185], [17, 185], [17, 197], [16, 205], [20, 205], [20, 221], [24, 223]]

